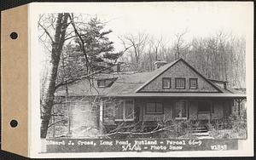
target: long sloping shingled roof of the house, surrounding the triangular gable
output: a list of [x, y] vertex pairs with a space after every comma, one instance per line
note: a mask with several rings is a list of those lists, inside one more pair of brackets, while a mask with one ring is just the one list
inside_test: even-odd
[[[77, 83], [68, 85], [69, 95], [102, 95], [102, 96], [114, 96], [114, 97], [246, 97], [245, 94], [237, 91], [236, 89], [222, 89], [211, 80], [203, 77], [198, 71], [196, 71], [201, 77], [205, 78], [207, 82], [212, 84], [215, 89], [219, 90], [219, 93], [139, 93], [140, 89], [143, 89], [147, 83], [150, 83], [155, 77], [158, 77], [161, 73], [171, 68], [178, 59], [172, 63], [161, 66], [154, 71], [148, 72], [119, 72], [111, 74], [99, 74], [96, 79], [115, 77], [116, 80], [111, 87], [98, 88], [96, 80], [89, 83], [87, 79], [80, 80]], [[183, 60], [185, 62], [185, 60]], [[187, 62], [185, 62], [187, 64]], [[189, 65], [189, 64], [187, 64]], [[192, 67], [192, 66], [189, 66]], [[193, 68], [193, 67], [192, 67]], [[194, 69], [194, 68], [193, 68]], [[194, 69], [195, 70], [195, 69]], [[55, 93], [57, 96], [65, 95], [65, 88], [58, 89]]]

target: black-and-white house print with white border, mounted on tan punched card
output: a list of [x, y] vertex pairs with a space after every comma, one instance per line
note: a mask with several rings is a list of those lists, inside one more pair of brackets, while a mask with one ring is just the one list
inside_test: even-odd
[[38, 11], [40, 154], [246, 150], [250, 4]]

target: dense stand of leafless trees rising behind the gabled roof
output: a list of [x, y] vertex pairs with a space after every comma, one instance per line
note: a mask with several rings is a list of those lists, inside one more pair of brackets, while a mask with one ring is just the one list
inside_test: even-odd
[[[182, 57], [208, 78], [229, 81], [230, 85], [236, 88], [245, 87], [245, 38], [218, 31], [215, 35], [195, 37], [186, 42], [186, 33], [187, 31], [177, 33], [172, 46], [164, 44], [161, 38], [148, 38], [148, 45], [144, 47], [143, 54], [140, 54], [141, 66], [132, 70], [138, 71], [139, 68], [142, 71], [152, 71], [154, 60], [171, 62]], [[136, 42], [134, 36], [129, 39]], [[121, 40], [124, 45], [127, 44], [125, 38]], [[133, 44], [135, 43], [131, 43], [132, 46]], [[135, 57], [133, 48], [130, 53]], [[126, 63], [137, 63], [134, 59], [124, 60]]]

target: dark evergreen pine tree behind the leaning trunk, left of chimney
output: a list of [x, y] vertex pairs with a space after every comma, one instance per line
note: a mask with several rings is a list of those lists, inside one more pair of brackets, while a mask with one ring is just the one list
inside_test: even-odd
[[[121, 52], [115, 53], [113, 42], [108, 38], [111, 30], [104, 31], [105, 24], [97, 18], [92, 18], [86, 27], [78, 29], [82, 37], [84, 50], [81, 48], [79, 37], [63, 47], [61, 65], [58, 72], [58, 84], [73, 83], [80, 77], [86, 77], [93, 72], [112, 71]], [[84, 55], [86, 54], [86, 57]], [[88, 61], [86, 60], [88, 59]], [[87, 77], [91, 78], [91, 77]], [[57, 85], [58, 86], [58, 85]]]

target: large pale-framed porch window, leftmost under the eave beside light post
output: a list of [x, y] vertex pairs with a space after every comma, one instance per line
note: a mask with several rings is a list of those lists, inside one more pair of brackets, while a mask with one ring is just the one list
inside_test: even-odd
[[121, 100], [115, 106], [116, 121], [132, 121], [134, 119], [134, 101]]

